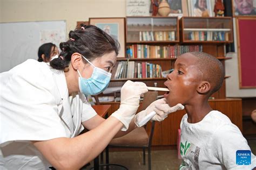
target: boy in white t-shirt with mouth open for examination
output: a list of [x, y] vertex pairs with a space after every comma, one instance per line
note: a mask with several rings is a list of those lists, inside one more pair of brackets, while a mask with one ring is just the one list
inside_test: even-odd
[[[179, 169], [254, 169], [256, 158], [237, 126], [208, 104], [208, 98], [218, 91], [224, 80], [221, 62], [203, 52], [180, 55], [165, 86], [164, 97], [172, 107], [185, 106], [180, 129]], [[245, 153], [238, 161], [238, 153]], [[240, 154], [241, 155], [241, 154]], [[251, 157], [251, 158], [250, 158]], [[251, 161], [251, 164], [250, 164]]]

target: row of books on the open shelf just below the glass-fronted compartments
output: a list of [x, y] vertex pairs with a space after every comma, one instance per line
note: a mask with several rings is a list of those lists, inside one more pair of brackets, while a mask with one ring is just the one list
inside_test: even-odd
[[201, 45], [152, 46], [133, 44], [126, 47], [126, 58], [177, 58], [187, 52], [202, 51]]

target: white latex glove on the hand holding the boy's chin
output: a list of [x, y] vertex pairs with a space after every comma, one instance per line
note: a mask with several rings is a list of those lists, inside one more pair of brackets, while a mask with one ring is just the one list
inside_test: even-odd
[[[152, 121], [164, 121], [164, 119], [170, 114], [171, 112], [175, 112], [177, 110], [183, 110], [184, 105], [177, 104], [174, 107], [170, 107], [167, 103], [165, 98], [161, 98], [159, 100], [156, 100], [152, 102], [149, 107], [146, 108], [146, 110], [140, 111], [137, 115], [135, 115], [134, 123], [139, 127], [139, 122], [143, 120], [148, 114], [150, 114], [152, 111], [155, 111], [157, 114], [154, 115], [151, 120]], [[145, 123], [146, 124], [146, 123]], [[144, 125], [145, 125], [144, 124]], [[142, 125], [140, 125], [142, 126]]]

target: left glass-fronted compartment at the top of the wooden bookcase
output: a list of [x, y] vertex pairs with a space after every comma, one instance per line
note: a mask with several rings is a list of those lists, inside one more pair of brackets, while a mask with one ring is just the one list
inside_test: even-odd
[[177, 17], [127, 17], [126, 43], [178, 43]]

